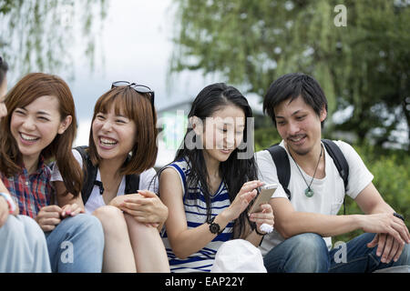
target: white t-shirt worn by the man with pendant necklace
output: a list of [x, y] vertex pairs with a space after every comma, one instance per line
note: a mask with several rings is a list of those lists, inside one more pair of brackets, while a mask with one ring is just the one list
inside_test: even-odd
[[[353, 199], [359, 195], [366, 186], [368, 186], [374, 176], [369, 172], [362, 158], [356, 153], [354, 148], [343, 141], [334, 141], [342, 150], [344, 157], [349, 165], [349, 178], [347, 189], [344, 192], [343, 179], [339, 175], [333, 159], [325, 150], [325, 176], [323, 179], [313, 179], [311, 188], [314, 191], [312, 197], [307, 197], [304, 190], [307, 188], [305, 181], [301, 176], [292, 157], [289, 155], [287, 149], [282, 141], [281, 145], [285, 148], [288, 154], [289, 162], [291, 163], [291, 179], [289, 181], [289, 190], [292, 194], [292, 206], [299, 212], [320, 213], [323, 215], [337, 215], [340, 207], [343, 204], [344, 195], [351, 196]], [[323, 146], [325, 149], [325, 147]], [[255, 154], [256, 162], [259, 167], [259, 178], [266, 184], [277, 183], [279, 186], [273, 194], [272, 198], [282, 197], [286, 198], [286, 193], [282, 185], [279, 183], [276, 166], [273, 163], [271, 154], [264, 150]], [[302, 170], [304, 179], [310, 183], [312, 176], [308, 176]], [[331, 237], [323, 237], [329, 249], [332, 247]], [[263, 238], [261, 244], [262, 255], [265, 256], [274, 246], [279, 245], [283, 241], [283, 237], [276, 231]]]

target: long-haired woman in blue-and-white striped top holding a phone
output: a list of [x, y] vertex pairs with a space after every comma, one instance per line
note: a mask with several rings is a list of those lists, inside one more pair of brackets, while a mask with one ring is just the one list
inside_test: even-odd
[[[173, 163], [160, 171], [159, 196], [169, 207], [164, 245], [171, 272], [210, 272], [223, 242], [261, 242], [272, 207], [247, 216], [263, 185], [251, 144], [251, 106], [234, 87], [205, 87], [192, 104], [190, 126]], [[253, 124], [251, 124], [253, 125]]]

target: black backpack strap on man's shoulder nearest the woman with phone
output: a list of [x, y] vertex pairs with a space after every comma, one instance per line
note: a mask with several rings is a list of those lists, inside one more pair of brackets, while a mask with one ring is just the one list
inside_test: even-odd
[[289, 200], [291, 200], [291, 191], [288, 189], [289, 180], [291, 179], [291, 164], [289, 163], [288, 154], [279, 144], [271, 146], [267, 151], [271, 154], [273, 163], [275, 163], [279, 183], [281, 183], [283, 190], [286, 192]]

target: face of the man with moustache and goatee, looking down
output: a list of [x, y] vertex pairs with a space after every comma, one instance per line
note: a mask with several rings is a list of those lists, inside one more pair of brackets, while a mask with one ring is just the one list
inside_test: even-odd
[[279, 135], [293, 153], [304, 156], [315, 146], [320, 147], [321, 123], [327, 115], [324, 108], [318, 116], [299, 96], [292, 102], [290, 99], [282, 101], [274, 108], [274, 113]]

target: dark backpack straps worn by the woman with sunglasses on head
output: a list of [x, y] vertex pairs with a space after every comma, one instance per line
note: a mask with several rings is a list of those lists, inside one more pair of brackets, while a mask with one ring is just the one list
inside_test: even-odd
[[[99, 193], [104, 193], [104, 187], [101, 182], [96, 181], [97, 178], [97, 166], [94, 166], [91, 162], [88, 153], [88, 146], [77, 146], [74, 148], [80, 153], [83, 159], [83, 168], [87, 170], [84, 180], [83, 188], [81, 189], [81, 196], [83, 198], [84, 205], [86, 205], [89, 196], [93, 190], [94, 185], [99, 186]], [[139, 175], [127, 175], [126, 176], [126, 189], [125, 194], [137, 193], [139, 188]]]

